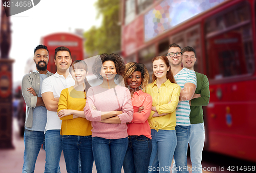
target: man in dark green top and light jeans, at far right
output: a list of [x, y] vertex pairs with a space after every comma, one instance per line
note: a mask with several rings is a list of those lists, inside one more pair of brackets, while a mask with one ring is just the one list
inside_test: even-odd
[[[182, 49], [183, 54], [183, 67], [193, 70], [197, 60], [196, 51], [187, 46]], [[196, 72], [197, 76], [197, 89], [194, 96], [189, 101], [190, 105], [190, 159], [192, 162], [192, 172], [202, 172], [202, 151], [204, 147], [204, 120], [203, 108], [209, 103], [210, 91], [208, 78], [201, 73]]]

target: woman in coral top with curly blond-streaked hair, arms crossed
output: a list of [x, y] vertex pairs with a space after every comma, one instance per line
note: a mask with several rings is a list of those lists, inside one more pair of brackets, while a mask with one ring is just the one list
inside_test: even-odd
[[147, 172], [152, 152], [151, 129], [147, 122], [152, 107], [152, 97], [144, 93], [150, 75], [142, 63], [129, 62], [125, 65], [125, 87], [130, 90], [133, 104], [133, 120], [127, 124], [129, 146], [123, 170], [127, 172]]

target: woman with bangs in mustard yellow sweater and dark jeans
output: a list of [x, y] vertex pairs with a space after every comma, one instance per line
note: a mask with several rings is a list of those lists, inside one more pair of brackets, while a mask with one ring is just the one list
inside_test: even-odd
[[67, 172], [78, 172], [79, 155], [81, 172], [92, 172], [92, 126], [84, 117], [86, 92], [91, 87], [87, 81], [88, 68], [83, 60], [76, 60], [70, 68], [75, 80], [73, 87], [61, 91], [58, 117], [62, 120], [60, 135]]

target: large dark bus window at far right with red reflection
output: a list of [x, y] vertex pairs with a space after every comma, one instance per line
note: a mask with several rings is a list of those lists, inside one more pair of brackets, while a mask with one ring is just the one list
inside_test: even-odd
[[[226, 11], [205, 23], [207, 76], [210, 79], [254, 72], [249, 5], [239, 4]], [[215, 24], [216, 27], [209, 29]]]

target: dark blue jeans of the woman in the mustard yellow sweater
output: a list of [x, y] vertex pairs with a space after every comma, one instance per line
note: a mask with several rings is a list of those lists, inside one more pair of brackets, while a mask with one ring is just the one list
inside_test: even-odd
[[79, 155], [81, 159], [81, 172], [92, 172], [92, 136], [63, 135], [62, 149], [67, 172], [78, 172]]

